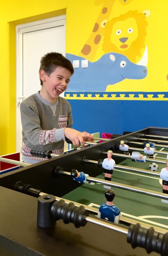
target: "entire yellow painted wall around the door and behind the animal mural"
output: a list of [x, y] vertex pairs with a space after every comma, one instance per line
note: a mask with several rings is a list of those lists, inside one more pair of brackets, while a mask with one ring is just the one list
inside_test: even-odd
[[[112, 1], [112, 0], [109, 0]], [[113, 0], [115, 4], [122, 0]], [[16, 150], [16, 56], [15, 29], [16, 25], [66, 13], [66, 52], [79, 54], [86, 43], [94, 22], [101, 10], [103, 0], [6, 0], [0, 7], [0, 155]], [[167, 33], [167, 0], [128, 0], [125, 8], [141, 10], [150, 9], [152, 14], [148, 20], [146, 45], [148, 45], [148, 69], [152, 76], [137, 82], [137, 91], [167, 90], [168, 80], [168, 33]], [[124, 7], [122, 7], [124, 8]], [[114, 5], [112, 16], [118, 16], [122, 8]], [[125, 10], [124, 9], [124, 12]], [[114, 15], [115, 14], [115, 15]], [[97, 57], [102, 55], [99, 49]], [[158, 64], [159, 63], [159, 66]], [[161, 75], [161, 74], [164, 74]], [[123, 81], [123, 88], [129, 84], [129, 91], [135, 91], [134, 81]], [[158, 89], [159, 87], [159, 89]], [[122, 88], [122, 87], [121, 87]], [[123, 88], [121, 90], [123, 90]], [[119, 90], [118, 85], [114, 90]], [[151, 91], [151, 90], [150, 90]]]

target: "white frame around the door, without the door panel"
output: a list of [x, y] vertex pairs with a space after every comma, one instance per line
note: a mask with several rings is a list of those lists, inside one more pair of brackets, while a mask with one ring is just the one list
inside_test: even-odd
[[23, 34], [31, 31], [47, 29], [56, 26], [65, 26], [66, 15], [60, 15], [35, 22], [24, 23], [16, 26], [16, 152], [20, 152], [20, 143], [22, 137], [22, 124], [20, 118], [20, 103], [24, 99], [23, 95]]

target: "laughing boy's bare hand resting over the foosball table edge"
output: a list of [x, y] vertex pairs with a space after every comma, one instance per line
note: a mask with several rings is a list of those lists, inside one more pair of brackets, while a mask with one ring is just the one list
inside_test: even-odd
[[72, 141], [75, 147], [81, 144], [83, 148], [85, 147], [85, 141], [92, 141], [93, 137], [93, 135], [88, 132], [79, 132], [72, 128], [65, 128], [64, 135]]

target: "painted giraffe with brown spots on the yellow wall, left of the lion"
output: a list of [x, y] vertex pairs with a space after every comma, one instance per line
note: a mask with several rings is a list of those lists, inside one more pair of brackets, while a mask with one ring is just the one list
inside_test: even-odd
[[[112, 7], [116, 0], [95, 0], [95, 5], [102, 5], [97, 20], [94, 24], [94, 28], [85, 45], [81, 49], [79, 56], [87, 58], [89, 61], [93, 61], [94, 56], [99, 48], [101, 39], [104, 34], [105, 23], [108, 21]], [[121, 4], [128, 4], [132, 0], [117, 0]]]

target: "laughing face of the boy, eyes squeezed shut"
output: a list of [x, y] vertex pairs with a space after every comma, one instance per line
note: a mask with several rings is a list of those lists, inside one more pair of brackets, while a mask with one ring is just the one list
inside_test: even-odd
[[51, 103], [54, 103], [58, 96], [63, 93], [70, 81], [71, 72], [65, 67], [56, 67], [54, 72], [49, 76], [44, 70], [40, 70], [43, 81], [43, 85], [40, 91], [40, 95]]

